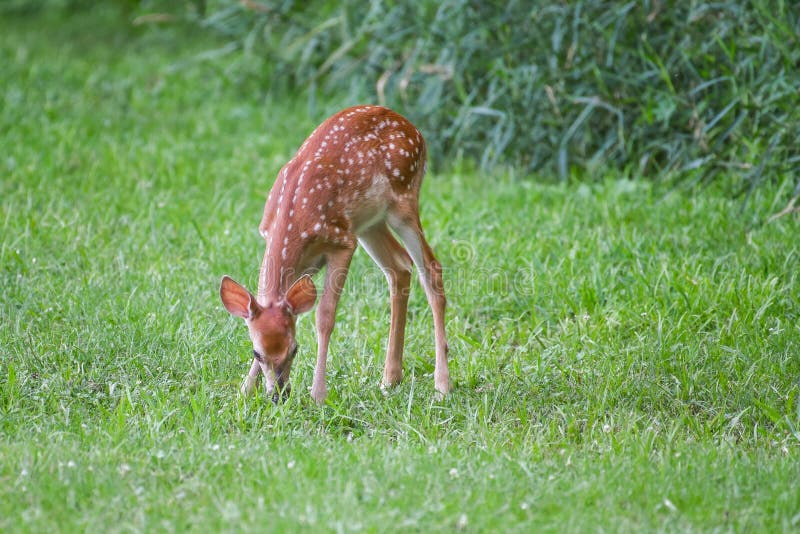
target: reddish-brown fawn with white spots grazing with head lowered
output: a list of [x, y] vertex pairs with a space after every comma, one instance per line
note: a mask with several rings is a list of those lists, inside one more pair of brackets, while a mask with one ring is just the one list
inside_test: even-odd
[[316, 402], [325, 400], [325, 366], [336, 305], [359, 243], [389, 282], [391, 326], [383, 385], [396, 385], [403, 377], [413, 262], [433, 311], [434, 385], [440, 394], [450, 390], [442, 267], [419, 220], [425, 157], [425, 141], [407, 119], [384, 107], [356, 106], [319, 125], [283, 166], [259, 225], [267, 246], [257, 296], [228, 276], [220, 286], [225, 308], [245, 320], [253, 341], [253, 363], [241, 387], [243, 394], [255, 389], [263, 373], [267, 395], [274, 402], [288, 395], [297, 353], [295, 320], [314, 306], [317, 290], [311, 275], [325, 266], [311, 387]]

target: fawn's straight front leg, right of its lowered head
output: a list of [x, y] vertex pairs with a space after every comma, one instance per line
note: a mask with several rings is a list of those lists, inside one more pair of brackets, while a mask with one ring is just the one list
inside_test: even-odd
[[355, 247], [340, 249], [328, 255], [325, 268], [325, 287], [317, 305], [317, 365], [314, 368], [314, 381], [311, 385], [311, 398], [321, 404], [328, 396], [325, 384], [325, 368], [328, 362], [328, 344], [336, 322], [336, 306], [347, 279], [350, 260]]

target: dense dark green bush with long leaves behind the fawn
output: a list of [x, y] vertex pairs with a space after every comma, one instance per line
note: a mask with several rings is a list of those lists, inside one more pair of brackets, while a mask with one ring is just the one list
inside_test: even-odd
[[218, 1], [276, 86], [386, 103], [438, 160], [751, 183], [800, 167], [789, 2]]

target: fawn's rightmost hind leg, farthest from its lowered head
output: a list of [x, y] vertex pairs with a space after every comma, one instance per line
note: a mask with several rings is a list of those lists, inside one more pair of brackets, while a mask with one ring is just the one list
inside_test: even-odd
[[406, 250], [419, 270], [419, 278], [425, 288], [428, 304], [433, 312], [433, 328], [436, 339], [436, 366], [433, 380], [436, 391], [447, 394], [450, 391], [450, 372], [447, 369], [447, 336], [444, 328], [444, 313], [447, 299], [442, 282], [442, 265], [433, 254], [425, 240], [422, 225], [416, 208], [412, 215], [390, 217], [389, 224], [402, 239]]

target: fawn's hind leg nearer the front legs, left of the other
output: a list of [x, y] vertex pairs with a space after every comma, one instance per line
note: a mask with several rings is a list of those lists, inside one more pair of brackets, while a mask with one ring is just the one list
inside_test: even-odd
[[359, 236], [358, 241], [381, 268], [389, 283], [391, 318], [382, 385], [395, 386], [403, 379], [403, 343], [408, 290], [411, 286], [411, 257], [397, 242], [386, 223], [370, 228]]

